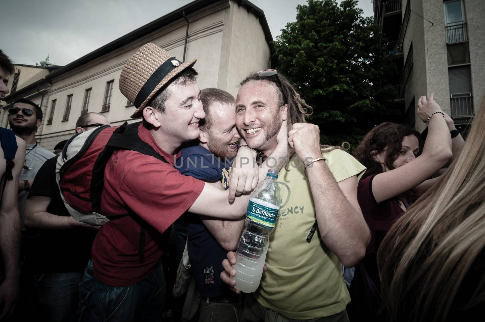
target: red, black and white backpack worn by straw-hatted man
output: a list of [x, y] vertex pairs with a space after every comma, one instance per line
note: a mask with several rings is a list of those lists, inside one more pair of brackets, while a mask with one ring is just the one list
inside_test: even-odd
[[[101, 212], [101, 193], [104, 185], [104, 169], [115, 150], [132, 150], [168, 163], [150, 145], [138, 136], [141, 122], [119, 127], [104, 125], [79, 133], [65, 144], [57, 158], [56, 181], [61, 198], [71, 217], [79, 222], [102, 226], [110, 220], [135, 216], [130, 212], [121, 216], [109, 216]], [[139, 217], [135, 219], [139, 222]], [[143, 226], [142, 226], [143, 228]], [[140, 232], [140, 241], [145, 239]], [[143, 236], [142, 236], [143, 235]], [[143, 243], [140, 242], [140, 254]]]

